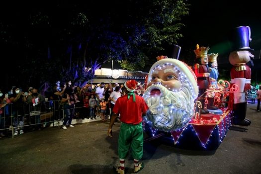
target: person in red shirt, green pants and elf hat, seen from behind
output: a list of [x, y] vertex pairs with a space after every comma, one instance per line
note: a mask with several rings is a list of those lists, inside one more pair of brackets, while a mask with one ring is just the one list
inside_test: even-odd
[[134, 93], [137, 84], [135, 80], [125, 82], [124, 91], [126, 95], [117, 99], [112, 110], [113, 115], [108, 129], [109, 137], [112, 137], [112, 125], [115, 122], [117, 114], [120, 114], [121, 121], [118, 140], [120, 166], [115, 167], [117, 174], [124, 174], [125, 158], [130, 149], [134, 159], [134, 173], [138, 173], [144, 167], [144, 163], [139, 164], [139, 160], [143, 156], [142, 116], [146, 115], [149, 107], [143, 97]]

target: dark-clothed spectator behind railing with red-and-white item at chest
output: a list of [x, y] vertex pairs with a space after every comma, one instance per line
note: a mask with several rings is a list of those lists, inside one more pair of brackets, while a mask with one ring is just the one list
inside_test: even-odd
[[44, 101], [44, 97], [38, 93], [36, 88], [31, 90], [32, 94], [28, 95], [26, 102], [29, 104], [29, 115], [30, 115], [30, 124], [34, 124], [33, 129], [41, 130], [41, 119], [40, 119], [40, 105]]

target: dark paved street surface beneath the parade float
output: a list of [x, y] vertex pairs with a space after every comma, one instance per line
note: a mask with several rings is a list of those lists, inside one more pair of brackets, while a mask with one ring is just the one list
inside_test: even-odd
[[[261, 112], [248, 104], [251, 126], [231, 126], [216, 151], [192, 151], [157, 142], [144, 144], [139, 174], [261, 174]], [[25, 132], [14, 139], [0, 139], [0, 174], [112, 174], [118, 164], [120, 123], [107, 137], [108, 122], [76, 124]], [[146, 138], [146, 134], [145, 138]], [[125, 162], [133, 173], [133, 161]]]

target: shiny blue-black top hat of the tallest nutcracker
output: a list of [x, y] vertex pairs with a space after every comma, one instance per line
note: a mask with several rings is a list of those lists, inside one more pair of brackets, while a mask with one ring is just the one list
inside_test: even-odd
[[229, 36], [231, 51], [254, 51], [249, 47], [251, 42], [251, 29], [249, 26], [239, 26], [231, 30]]

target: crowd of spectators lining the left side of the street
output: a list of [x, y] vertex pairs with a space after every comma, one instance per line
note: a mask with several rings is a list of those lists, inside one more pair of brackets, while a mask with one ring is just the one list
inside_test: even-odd
[[[0, 89], [0, 138], [10, 130], [14, 136], [23, 134], [25, 129], [42, 130], [46, 122], [54, 120], [62, 120], [63, 129], [74, 127], [72, 119], [101, 117], [106, 121], [117, 98], [124, 95], [122, 91], [123, 85], [117, 83], [79, 87], [72, 81], [64, 84], [58, 81], [53, 87], [39, 92], [35, 87]], [[140, 93], [143, 92], [137, 91]], [[41, 115], [47, 111], [52, 112], [52, 116], [43, 120]]]

